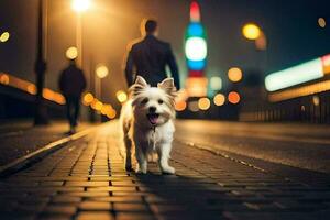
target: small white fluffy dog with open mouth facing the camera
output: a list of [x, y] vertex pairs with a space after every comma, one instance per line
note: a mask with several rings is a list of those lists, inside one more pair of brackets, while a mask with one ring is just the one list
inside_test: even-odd
[[136, 173], [147, 172], [147, 157], [158, 155], [163, 174], [174, 174], [168, 165], [175, 131], [174, 98], [176, 88], [173, 78], [166, 78], [151, 87], [141, 76], [130, 88], [130, 100], [123, 106], [120, 123], [123, 131], [125, 169], [132, 170], [132, 147], [135, 147]]

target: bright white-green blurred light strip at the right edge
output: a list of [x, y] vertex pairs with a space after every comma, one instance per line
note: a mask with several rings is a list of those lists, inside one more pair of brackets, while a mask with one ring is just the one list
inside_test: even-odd
[[270, 74], [265, 78], [265, 86], [268, 91], [276, 91], [321, 77], [323, 77], [322, 59], [316, 58], [280, 72]]

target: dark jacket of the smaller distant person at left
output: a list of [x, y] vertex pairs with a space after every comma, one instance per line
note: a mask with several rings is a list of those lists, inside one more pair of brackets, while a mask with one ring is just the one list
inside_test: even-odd
[[59, 77], [59, 89], [65, 97], [79, 98], [86, 88], [84, 72], [76, 65], [69, 65]]

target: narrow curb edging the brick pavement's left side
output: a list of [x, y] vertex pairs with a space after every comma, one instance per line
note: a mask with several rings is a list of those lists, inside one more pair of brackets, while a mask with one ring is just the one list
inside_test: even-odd
[[63, 138], [63, 139], [57, 140], [55, 142], [48, 143], [45, 146], [36, 150], [35, 152], [32, 152], [32, 153], [30, 153], [25, 156], [16, 158], [15, 161], [13, 161], [9, 164], [0, 166], [0, 177], [4, 177], [4, 176], [8, 176], [8, 175], [13, 174], [15, 172], [19, 172], [23, 167], [25, 167], [28, 165], [31, 165], [31, 164], [42, 160], [44, 156], [46, 156], [46, 155], [64, 147], [66, 143], [68, 143], [70, 141], [78, 140], [78, 139], [96, 131], [97, 129], [100, 129], [105, 124], [107, 124], [107, 123], [102, 123], [102, 124], [96, 125], [94, 128], [86, 129], [84, 131], [77, 132], [75, 134]]

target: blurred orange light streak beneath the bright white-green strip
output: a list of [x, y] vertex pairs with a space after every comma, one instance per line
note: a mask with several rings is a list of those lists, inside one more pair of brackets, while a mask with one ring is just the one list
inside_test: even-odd
[[287, 89], [285, 91], [277, 91], [268, 95], [268, 100], [272, 102], [284, 101], [287, 99], [309, 96], [330, 90], [330, 80], [316, 82], [299, 88]]

